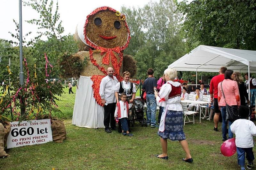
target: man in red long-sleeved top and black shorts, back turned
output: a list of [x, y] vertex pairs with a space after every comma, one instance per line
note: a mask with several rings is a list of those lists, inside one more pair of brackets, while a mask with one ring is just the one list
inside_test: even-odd
[[218, 131], [218, 123], [220, 121], [220, 109], [218, 105], [218, 84], [219, 82], [223, 81], [225, 71], [227, 70], [227, 67], [220, 67], [219, 75], [216, 75], [212, 78], [210, 82], [210, 96], [211, 96], [211, 102], [214, 100], [214, 131]]

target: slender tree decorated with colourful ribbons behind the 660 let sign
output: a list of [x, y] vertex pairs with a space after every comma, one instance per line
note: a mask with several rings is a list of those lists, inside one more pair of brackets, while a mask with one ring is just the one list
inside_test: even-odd
[[[61, 83], [52, 84], [48, 81], [50, 73], [54, 73], [54, 76], [57, 76], [60, 71], [60, 67], [52, 67], [50, 61], [55, 65], [58, 57], [63, 53], [77, 51], [77, 46], [72, 36], [60, 35], [63, 33], [64, 28], [61, 26], [61, 21], [59, 21], [58, 3], [56, 4], [56, 11], [53, 10], [53, 0], [50, 3], [48, 3], [48, 0], [29, 0], [25, 2], [25, 5], [31, 6], [40, 15], [39, 19], [28, 21], [28, 23], [39, 25], [38, 36], [31, 41], [26, 42], [25, 38], [23, 41], [25, 44], [23, 47], [25, 83], [22, 87], [18, 78], [19, 67], [13, 67], [12, 74], [7, 68], [4, 69], [8, 77], [10, 76], [11, 83], [6, 86], [6, 90], [1, 97], [1, 119], [3, 116], [10, 119], [13, 114], [17, 121], [31, 120], [45, 114], [51, 115], [52, 112], [60, 112], [57, 108], [56, 100], [59, 100], [57, 96], [61, 96], [64, 87]], [[11, 34], [19, 40], [19, 25], [15, 21], [14, 23], [17, 32]], [[41, 40], [42, 36], [46, 36], [47, 40]], [[3, 46], [6, 45], [3, 47], [3, 56], [7, 57], [13, 53], [15, 54], [13, 55], [14, 57], [18, 56], [19, 48], [12, 47], [6, 43], [18, 45], [17, 42], [5, 40], [5, 43], [2, 43]], [[8, 88], [11, 89], [10, 94], [6, 93]], [[10, 113], [12, 114], [10, 115]]]

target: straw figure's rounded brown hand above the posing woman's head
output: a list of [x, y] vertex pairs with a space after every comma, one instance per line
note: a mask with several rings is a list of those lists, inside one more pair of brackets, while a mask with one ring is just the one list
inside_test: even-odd
[[134, 77], [137, 73], [137, 65], [136, 61], [133, 59], [131, 55], [124, 55], [123, 60], [123, 71], [128, 71], [131, 73], [131, 77]]

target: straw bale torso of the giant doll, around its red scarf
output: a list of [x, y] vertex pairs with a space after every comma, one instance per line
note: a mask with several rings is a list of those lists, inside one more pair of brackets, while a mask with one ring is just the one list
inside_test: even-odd
[[[102, 64], [102, 58], [105, 56], [105, 54], [100, 55], [100, 53], [101, 52], [99, 50], [93, 51], [93, 58], [94, 58], [94, 60], [97, 61], [97, 63], [100, 65], [100, 67], [104, 67], [105, 70], [107, 70], [108, 67], [113, 67], [111, 60], [109, 61], [109, 65]], [[113, 52], [113, 53], [115, 54], [115, 56], [118, 56], [118, 53], [115, 53], [115, 52]], [[74, 54], [74, 56], [79, 57], [80, 59], [84, 60], [85, 57], [89, 58], [90, 54], [88, 51], [81, 51], [81, 52]], [[119, 62], [119, 61], [120, 61], [120, 57], [117, 57], [117, 62]], [[121, 66], [119, 74], [122, 75], [122, 73], [123, 73], [123, 66]], [[92, 64], [91, 60], [89, 59], [86, 67], [82, 68], [80, 75], [92, 76], [92, 75], [106, 75], [106, 74], [102, 73], [102, 71], [100, 71], [98, 69], [98, 67], [94, 66]]]

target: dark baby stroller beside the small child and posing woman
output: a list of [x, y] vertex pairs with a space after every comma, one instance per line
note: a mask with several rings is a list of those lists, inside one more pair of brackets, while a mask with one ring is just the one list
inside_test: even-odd
[[144, 118], [144, 100], [141, 98], [135, 98], [133, 100], [134, 102], [134, 115], [135, 115], [135, 119], [132, 120], [132, 126], [134, 124], [134, 121], [136, 122], [140, 122], [141, 123], [141, 127], [143, 126], [147, 126], [147, 119]]

